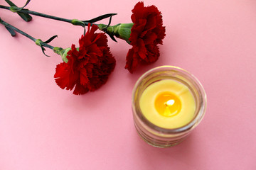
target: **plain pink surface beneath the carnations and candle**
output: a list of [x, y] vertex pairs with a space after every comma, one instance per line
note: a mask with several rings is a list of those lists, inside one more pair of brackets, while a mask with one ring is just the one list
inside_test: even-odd
[[[23, 6], [25, 1], [14, 1]], [[63, 3], [66, 2], [66, 3]], [[27, 8], [86, 20], [118, 13], [130, 23], [137, 1], [31, 1]], [[4, 1], [1, 5], [6, 5]], [[101, 89], [75, 96], [53, 79], [58, 55], [0, 26], [0, 169], [256, 169], [256, 1], [144, 1], [163, 13], [161, 57], [134, 74], [124, 69], [129, 45], [110, 40], [117, 67]], [[1, 18], [50, 44], [78, 45], [82, 28], [0, 9]], [[102, 21], [107, 23], [108, 21]], [[192, 72], [208, 95], [206, 116], [180, 145], [147, 145], [134, 129], [134, 83], [164, 64]]]

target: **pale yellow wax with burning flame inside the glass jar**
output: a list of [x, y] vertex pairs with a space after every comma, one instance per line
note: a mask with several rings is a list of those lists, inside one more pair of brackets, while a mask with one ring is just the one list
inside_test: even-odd
[[196, 111], [193, 94], [184, 84], [165, 79], [148, 86], [139, 100], [142, 114], [156, 126], [181, 128]]

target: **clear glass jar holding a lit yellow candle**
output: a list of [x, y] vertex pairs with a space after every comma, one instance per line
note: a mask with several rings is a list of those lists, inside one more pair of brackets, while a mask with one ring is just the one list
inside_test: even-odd
[[156, 67], [135, 84], [132, 112], [135, 128], [145, 142], [154, 147], [172, 147], [203, 119], [206, 93], [186, 70]]

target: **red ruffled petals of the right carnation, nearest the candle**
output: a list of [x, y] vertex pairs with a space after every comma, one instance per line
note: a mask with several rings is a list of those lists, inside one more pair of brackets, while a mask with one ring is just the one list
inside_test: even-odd
[[139, 63], [156, 62], [159, 58], [158, 44], [163, 44], [165, 27], [161, 12], [156, 6], [144, 7], [139, 2], [132, 10], [132, 26], [129, 38], [132, 48], [127, 53], [125, 68], [133, 72]]

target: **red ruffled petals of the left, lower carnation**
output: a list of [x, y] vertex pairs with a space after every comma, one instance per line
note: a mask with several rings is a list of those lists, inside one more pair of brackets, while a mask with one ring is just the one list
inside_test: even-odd
[[95, 91], [106, 83], [114, 70], [115, 59], [110, 53], [105, 33], [95, 33], [96, 25], [90, 24], [87, 33], [79, 40], [79, 50], [72, 45], [67, 53], [68, 62], [57, 65], [55, 81], [61, 89], [72, 90], [73, 94]]

